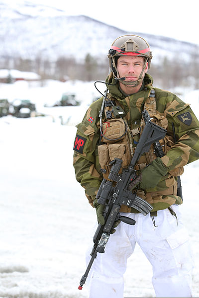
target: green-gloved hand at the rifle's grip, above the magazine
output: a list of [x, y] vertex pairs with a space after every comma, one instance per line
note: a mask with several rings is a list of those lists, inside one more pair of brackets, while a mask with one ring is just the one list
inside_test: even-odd
[[132, 190], [138, 184], [141, 189], [154, 188], [168, 171], [169, 168], [164, 165], [160, 157], [157, 157], [150, 165], [141, 170], [136, 179], [129, 184], [128, 189]]

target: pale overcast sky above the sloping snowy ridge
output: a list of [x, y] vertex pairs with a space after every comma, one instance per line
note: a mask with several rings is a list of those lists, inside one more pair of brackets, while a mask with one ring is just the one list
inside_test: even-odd
[[[14, 0], [18, 1], [22, 0]], [[84, 14], [132, 33], [151, 33], [199, 44], [199, 0], [30, 1], [63, 9], [68, 15]]]

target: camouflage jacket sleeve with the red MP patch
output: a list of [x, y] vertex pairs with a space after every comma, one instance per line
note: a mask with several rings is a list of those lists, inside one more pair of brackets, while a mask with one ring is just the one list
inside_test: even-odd
[[74, 141], [73, 165], [76, 179], [85, 188], [85, 194], [92, 206], [102, 181], [97, 149], [100, 138], [98, 119], [98, 109], [91, 106], [82, 123], [77, 125]]

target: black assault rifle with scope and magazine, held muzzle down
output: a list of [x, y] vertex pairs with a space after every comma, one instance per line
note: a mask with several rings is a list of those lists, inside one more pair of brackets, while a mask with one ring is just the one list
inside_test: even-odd
[[112, 167], [108, 176], [108, 179], [111, 181], [103, 179], [98, 190], [96, 198], [98, 199], [98, 203], [104, 205], [104, 224], [99, 224], [95, 232], [93, 238], [94, 246], [91, 252], [92, 257], [85, 274], [81, 278], [80, 286], [78, 287], [79, 290], [82, 290], [82, 287], [86, 282], [91, 266], [97, 257], [97, 253], [104, 252], [105, 245], [110, 237], [114, 223], [120, 220], [126, 224], [135, 224], [133, 219], [120, 216], [119, 210], [121, 205], [133, 207], [144, 216], [153, 209], [147, 201], [137, 196], [136, 192], [132, 193], [132, 191], [128, 190], [129, 183], [136, 177], [136, 170], [134, 167], [140, 156], [144, 152], [148, 152], [150, 146], [163, 139], [167, 133], [165, 129], [150, 121], [150, 116], [146, 110], [143, 111], [143, 116], [145, 127], [128, 168], [123, 168], [122, 173], [119, 174], [122, 159], [114, 158], [114, 160], [110, 162]]

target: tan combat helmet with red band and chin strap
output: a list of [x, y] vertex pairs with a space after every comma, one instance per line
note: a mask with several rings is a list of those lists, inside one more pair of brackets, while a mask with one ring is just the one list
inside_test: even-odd
[[127, 82], [122, 79], [120, 80], [120, 82], [125, 85], [137, 86], [143, 80], [142, 74], [146, 68], [147, 62], [148, 69], [150, 68], [152, 52], [150, 50], [148, 42], [144, 38], [132, 34], [120, 36], [113, 41], [111, 48], [108, 51], [108, 58], [110, 68], [114, 73], [116, 79], [120, 78], [116, 67], [117, 59], [115, 59], [119, 56], [141, 56], [145, 58], [142, 72], [136, 81]]

